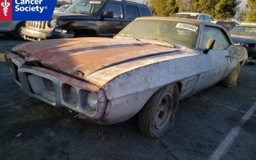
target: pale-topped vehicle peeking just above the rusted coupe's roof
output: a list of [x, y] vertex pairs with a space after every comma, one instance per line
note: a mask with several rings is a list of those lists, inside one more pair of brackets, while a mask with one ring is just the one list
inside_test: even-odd
[[211, 17], [204, 13], [176, 13], [174, 17], [182, 18], [182, 19], [197, 19], [197, 20], [203, 20], [206, 22], [211, 22]]

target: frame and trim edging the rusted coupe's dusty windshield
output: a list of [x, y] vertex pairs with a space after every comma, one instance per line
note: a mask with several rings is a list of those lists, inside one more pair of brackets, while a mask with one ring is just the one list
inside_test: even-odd
[[[143, 19], [143, 18], [140, 18], [140, 19], [134, 19], [130, 24], [128, 24], [124, 29], [126, 28], [129, 28], [129, 26], [131, 26], [131, 24], [135, 21], [135, 20], [163, 20], [163, 21], [172, 21], [172, 22], [177, 22], [177, 23], [188, 23], [190, 25], [193, 25], [192, 22], [187, 22], [187, 21], [183, 21], [183, 20], [173, 20], [173, 19]], [[124, 30], [122, 29], [122, 31]], [[129, 37], [124, 37], [124, 36], [120, 36], [120, 35], [124, 35], [124, 33], [122, 33], [122, 31], [120, 31], [117, 35], [114, 36], [114, 38], [129, 38]], [[195, 47], [190, 47], [190, 46], [187, 46], [187, 45], [180, 45], [180, 44], [175, 44], [175, 43], [172, 43], [172, 42], [168, 42], [170, 43], [171, 45], [174, 45], [175, 47], [179, 47], [179, 48], [189, 48], [189, 49], [196, 49], [196, 50], [200, 50], [199, 46], [200, 46], [200, 35], [202, 34], [202, 25], [198, 24], [198, 35], [197, 35], [197, 42], [196, 42], [196, 45]], [[149, 37], [149, 36], [148, 36]], [[150, 40], [150, 38], [152, 37], [145, 37], [145, 38], [139, 38], [139, 37], [134, 37], [134, 38], [138, 38], [140, 39], [140, 41], [145, 41], [145, 42], [152, 42], [152, 44], [159, 44], [156, 42], [156, 40]], [[134, 38], [131, 38], [131, 39], [134, 39]], [[160, 41], [159, 41], [160, 42]], [[166, 42], [164, 42], [166, 43]], [[164, 45], [164, 43], [162, 43]], [[166, 47], [170, 47], [170, 45], [164, 45]]]

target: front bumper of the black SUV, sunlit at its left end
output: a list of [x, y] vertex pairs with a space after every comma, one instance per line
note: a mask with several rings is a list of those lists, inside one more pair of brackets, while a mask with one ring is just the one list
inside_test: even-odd
[[58, 39], [58, 38], [73, 38], [74, 34], [60, 33], [58, 31], [38, 31], [33, 28], [22, 28], [22, 35], [25, 40], [46, 40], [46, 39]]

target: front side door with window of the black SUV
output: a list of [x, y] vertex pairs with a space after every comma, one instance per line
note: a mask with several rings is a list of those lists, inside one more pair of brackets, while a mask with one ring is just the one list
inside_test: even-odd
[[124, 5], [122, 3], [108, 3], [104, 11], [114, 13], [113, 18], [102, 19], [99, 24], [100, 36], [113, 36], [121, 31], [129, 22], [124, 17]]

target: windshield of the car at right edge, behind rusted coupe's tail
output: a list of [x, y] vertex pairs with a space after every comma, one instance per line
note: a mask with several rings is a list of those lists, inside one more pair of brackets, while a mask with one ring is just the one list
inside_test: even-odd
[[236, 26], [229, 31], [230, 35], [256, 36], [256, 27], [254, 26]]

